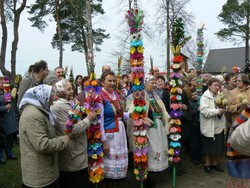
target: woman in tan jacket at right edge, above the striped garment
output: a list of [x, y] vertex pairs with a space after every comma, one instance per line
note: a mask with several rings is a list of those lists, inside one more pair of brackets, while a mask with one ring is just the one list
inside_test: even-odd
[[[236, 77], [236, 88], [233, 89], [228, 96], [228, 111], [232, 115], [232, 122], [240, 115], [242, 110], [250, 103], [250, 87], [249, 79], [246, 74], [239, 74]], [[245, 101], [245, 103], [244, 103]]]

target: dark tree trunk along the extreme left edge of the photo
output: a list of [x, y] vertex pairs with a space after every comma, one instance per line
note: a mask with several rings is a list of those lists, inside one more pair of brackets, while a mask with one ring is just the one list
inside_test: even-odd
[[1, 27], [2, 27], [2, 43], [0, 54], [0, 69], [3, 75], [7, 75], [11, 78], [11, 73], [5, 68], [5, 58], [7, 49], [8, 31], [6, 26], [6, 19], [4, 14], [4, 0], [0, 0], [0, 14], [1, 14]]

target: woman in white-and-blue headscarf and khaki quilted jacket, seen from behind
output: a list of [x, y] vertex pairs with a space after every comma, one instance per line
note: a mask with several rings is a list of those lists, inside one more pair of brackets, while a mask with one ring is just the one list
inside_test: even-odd
[[57, 153], [68, 145], [69, 137], [56, 137], [55, 116], [50, 111], [53, 97], [52, 86], [39, 85], [29, 89], [20, 103], [23, 187], [57, 187]]

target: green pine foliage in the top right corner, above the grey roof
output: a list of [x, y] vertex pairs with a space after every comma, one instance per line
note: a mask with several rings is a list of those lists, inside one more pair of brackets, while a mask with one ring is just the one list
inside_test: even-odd
[[247, 27], [249, 12], [250, 6], [247, 0], [228, 0], [218, 16], [218, 19], [227, 27], [215, 33], [217, 37], [222, 41], [230, 41], [235, 44], [244, 41], [249, 33], [249, 27]]

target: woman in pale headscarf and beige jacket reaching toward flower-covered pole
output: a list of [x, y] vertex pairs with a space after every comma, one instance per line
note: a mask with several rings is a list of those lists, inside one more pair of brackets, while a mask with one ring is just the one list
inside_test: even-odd
[[[55, 84], [57, 100], [51, 110], [56, 115], [56, 135], [64, 135], [67, 116], [70, 108], [70, 100], [73, 99], [74, 91], [67, 80], [60, 80]], [[91, 113], [85, 119], [74, 125], [68, 146], [58, 155], [61, 188], [66, 187], [89, 187], [88, 185], [88, 156], [86, 129], [90, 121], [95, 118]]]

